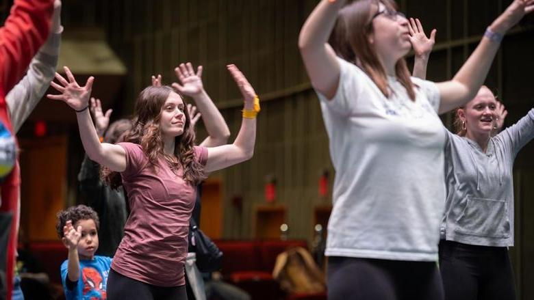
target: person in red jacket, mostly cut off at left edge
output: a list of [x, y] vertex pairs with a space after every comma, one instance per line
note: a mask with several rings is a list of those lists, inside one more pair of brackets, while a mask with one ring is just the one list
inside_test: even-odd
[[[10, 225], [2, 226], [2, 235], [7, 233], [5, 251], [5, 291], [0, 298], [11, 299], [13, 267], [16, 251], [16, 232], [18, 229], [18, 186], [20, 170], [16, 159], [16, 141], [12, 130], [5, 94], [21, 80], [31, 59], [40, 46], [47, 40], [50, 31], [53, 0], [15, 0], [10, 16], [0, 28], [0, 214], [10, 218]], [[6, 247], [0, 245], [0, 247]], [[3, 258], [0, 258], [3, 259]], [[2, 271], [2, 270], [0, 270]]]

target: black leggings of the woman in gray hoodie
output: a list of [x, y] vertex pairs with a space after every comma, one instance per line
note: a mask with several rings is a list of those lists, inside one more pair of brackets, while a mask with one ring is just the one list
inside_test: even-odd
[[516, 299], [506, 247], [440, 241], [440, 271], [447, 300]]

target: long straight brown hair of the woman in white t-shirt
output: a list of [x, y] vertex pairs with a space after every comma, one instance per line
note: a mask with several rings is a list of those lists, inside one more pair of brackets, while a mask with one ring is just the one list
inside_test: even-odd
[[[387, 9], [397, 10], [397, 5], [392, 0], [359, 0], [345, 5], [338, 13], [329, 44], [339, 57], [364, 70], [382, 94], [389, 98], [391, 95], [387, 84], [387, 74], [374, 51], [374, 46], [368, 40], [374, 30], [371, 16], [377, 12], [379, 3]], [[405, 87], [409, 98], [415, 100], [414, 83], [411, 82], [410, 72], [404, 58], [398, 59], [395, 74], [401, 85]]]

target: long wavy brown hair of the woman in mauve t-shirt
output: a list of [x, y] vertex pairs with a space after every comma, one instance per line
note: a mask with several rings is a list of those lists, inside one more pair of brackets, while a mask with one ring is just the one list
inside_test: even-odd
[[[152, 166], [157, 165], [158, 159], [163, 158], [175, 172], [182, 167], [183, 180], [190, 185], [198, 185], [205, 178], [205, 175], [201, 163], [194, 156], [195, 135], [187, 109], [183, 109], [186, 122], [183, 124], [183, 134], [175, 137], [174, 154], [165, 154], [163, 150], [164, 142], [160, 130], [160, 118], [165, 101], [171, 92], [179, 94], [173, 87], [166, 85], [161, 87], [149, 86], [142, 90], [136, 101], [131, 130], [125, 134], [123, 141], [139, 144]], [[183, 104], [186, 107], [185, 101]], [[107, 167], [103, 167], [102, 177], [113, 189], [122, 185], [120, 174], [111, 172]]]

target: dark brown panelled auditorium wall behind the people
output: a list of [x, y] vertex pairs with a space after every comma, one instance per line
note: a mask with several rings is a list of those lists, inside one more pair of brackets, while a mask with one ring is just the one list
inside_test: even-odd
[[[81, 3], [82, 1], [77, 1]], [[83, 1], [87, 3], [87, 1]], [[264, 203], [266, 176], [277, 179], [277, 202], [287, 208], [290, 236], [308, 238], [314, 208], [328, 203], [317, 193], [320, 174], [330, 170], [328, 141], [316, 95], [310, 89], [296, 46], [298, 31], [316, 0], [103, 1], [96, 14], [110, 44], [129, 67], [129, 92], [161, 72], [174, 80], [173, 66], [190, 61], [205, 67], [205, 87], [231, 128], [240, 126], [241, 100], [225, 65], [240, 66], [262, 96], [254, 158], [216, 174], [223, 180], [223, 236], [252, 237], [255, 206]], [[428, 78], [453, 77], [485, 27], [511, 1], [404, 0], [407, 16], [437, 29]], [[529, 17], [505, 38], [486, 84], [509, 110], [507, 125], [532, 107], [534, 23]], [[410, 59], [411, 60], [411, 59]], [[129, 100], [133, 97], [129, 97]], [[131, 105], [129, 105], [131, 107]], [[450, 126], [451, 115], [444, 116]], [[231, 137], [231, 139], [233, 139]], [[511, 250], [522, 299], [534, 297], [534, 145], [519, 154], [516, 183], [516, 247]], [[333, 176], [331, 176], [333, 177]], [[242, 206], [232, 199], [242, 197]]]

